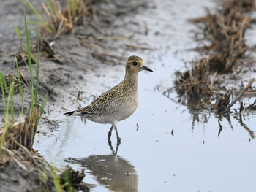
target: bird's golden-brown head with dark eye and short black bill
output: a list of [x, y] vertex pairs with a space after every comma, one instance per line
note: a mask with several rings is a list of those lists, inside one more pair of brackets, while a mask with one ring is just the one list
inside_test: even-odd
[[153, 72], [147, 66], [143, 65], [142, 58], [135, 56], [135, 55], [132, 55], [128, 58], [125, 69], [128, 74], [138, 74], [138, 72], [140, 72], [142, 70], [146, 70], [148, 72]]

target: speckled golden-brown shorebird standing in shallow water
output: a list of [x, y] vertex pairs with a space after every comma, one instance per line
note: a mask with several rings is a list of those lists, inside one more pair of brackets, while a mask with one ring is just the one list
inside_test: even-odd
[[112, 130], [115, 128], [117, 140], [120, 142], [117, 123], [129, 118], [138, 106], [138, 72], [142, 70], [153, 72], [143, 65], [142, 58], [135, 55], [130, 56], [125, 65], [124, 80], [102, 93], [88, 106], [80, 110], [66, 112], [64, 115], [77, 115], [96, 123], [112, 124], [108, 131], [108, 139], [110, 141]]

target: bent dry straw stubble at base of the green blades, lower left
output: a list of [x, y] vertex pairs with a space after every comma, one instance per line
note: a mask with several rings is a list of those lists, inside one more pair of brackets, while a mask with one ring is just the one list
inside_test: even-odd
[[[21, 183], [18, 183], [19, 185], [15, 185], [16, 187], [13, 188], [7, 188], [7, 186], [11, 183], [10, 177], [18, 178], [21, 173], [28, 177], [29, 175], [33, 175], [29, 180], [35, 180], [37, 178], [38, 188], [30, 186], [33, 190], [38, 191], [39, 186], [42, 190], [46, 191], [51, 191], [50, 188], [53, 188], [53, 182], [48, 183], [47, 180], [42, 180], [39, 177], [40, 172], [48, 178], [50, 176], [50, 166], [44, 158], [32, 150], [34, 134], [39, 120], [39, 109], [34, 107], [32, 117], [30, 117], [29, 113], [30, 110], [26, 115], [25, 122], [15, 123], [14, 120], [9, 120], [8, 122], [4, 122], [5, 125], [3, 128], [0, 128], [0, 168], [12, 170], [12, 166], [15, 167], [15, 170], [10, 171], [12, 173], [6, 171], [0, 172], [0, 183], [3, 187], [2, 189], [6, 191], [15, 191], [14, 188], [19, 188]], [[7, 176], [7, 174], [13, 175]], [[7, 183], [8, 185], [4, 185]], [[27, 190], [29, 190], [29, 186]]]

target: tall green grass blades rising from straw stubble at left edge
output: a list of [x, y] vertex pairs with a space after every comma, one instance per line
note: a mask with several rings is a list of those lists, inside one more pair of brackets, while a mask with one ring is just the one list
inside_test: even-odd
[[[31, 150], [34, 142], [34, 136], [37, 132], [37, 126], [39, 123], [39, 119], [43, 113], [43, 108], [45, 106], [45, 102], [47, 99], [47, 95], [45, 96], [45, 100], [43, 104], [38, 104], [38, 89], [39, 89], [39, 56], [38, 61], [34, 59], [31, 53], [30, 40], [29, 40], [29, 30], [26, 20], [26, 12], [24, 11], [24, 23], [25, 23], [25, 36], [26, 36], [26, 52], [28, 53], [28, 63], [29, 63], [29, 89], [31, 93], [31, 106], [27, 112], [25, 122], [15, 123], [14, 120], [14, 107], [13, 107], [13, 96], [15, 88], [17, 87], [20, 91], [21, 97], [21, 112], [20, 115], [23, 115], [23, 88], [20, 78], [20, 72], [18, 70], [18, 62], [17, 58], [15, 58], [16, 64], [16, 72], [18, 80], [10, 79], [10, 82], [7, 82], [4, 75], [0, 72], [0, 85], [1, 85], [1, 95], [2, 101], [4, 102], [4, 130], [0, 132], [1, 135], [1, 150], [11, 149], [17, 150], [21, 146], [26, 147], [27, 150]], [[39, 42], [39, 33], [38, 28], [36, 28], [37, 33], [37, 42]], [[37, 47], [39, 51], [39, 47]], [[39, 54], [38, 54], [39, 55]], [[32, 60], [36, 61], [37, 67], [36, 69], [32, 66]], [[36, 71], [36, 82], [34, 86], [34, 70]], [[10, 118], [12, 115], [12, 118]]]

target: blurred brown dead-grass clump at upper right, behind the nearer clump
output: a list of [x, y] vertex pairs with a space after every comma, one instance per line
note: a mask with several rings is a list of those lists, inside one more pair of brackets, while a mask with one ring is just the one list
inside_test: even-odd
[[211, 71], [232, 72], [235, 64], [243, 62], [241, 60], [246, 57], [248, 49], [244, 41], [244, 33], [251, 25], [248, 16], [244, 16], [233, 7], [227, 15], [222, 15], [221, 12], [218, 14], [208, 12], [206, 17], [191, 22], [200, 24], [200, 29], [203, 31], [203, 38], [197, 40], [210, 42], [210, 45], [200, 47], [200, 50], [211, 54], [208, 64]]

